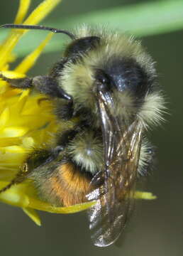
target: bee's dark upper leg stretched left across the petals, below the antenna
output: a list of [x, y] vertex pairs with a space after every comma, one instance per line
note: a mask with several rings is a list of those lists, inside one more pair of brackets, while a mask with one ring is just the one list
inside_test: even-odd
[[72, 102], [72, 97], [62, 90], [57, 84], [57, 80], [50, 76], [38, 75], [35, 78], [6, 78], [0, 74], [0, 78], [9, 82], [13, 87], [23, 90], [33, 87], [38, 92], [49, 95], [50, 97], [58, 97]]

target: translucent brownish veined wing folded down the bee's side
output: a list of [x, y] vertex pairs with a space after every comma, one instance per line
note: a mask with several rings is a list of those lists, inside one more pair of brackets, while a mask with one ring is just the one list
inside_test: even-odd
[[142, 127], [130, 125], [124, 118], [111, 114], [112, 98], [99, 95], [99, 110], [104, 139], [104, 171], [91, 185], [101, 186], [87, 195], [96, 200], [89, 209], [89, 228], [94, 245], [105, 247], [116, 241], [133, 208], [133, 191], [138, 169]]

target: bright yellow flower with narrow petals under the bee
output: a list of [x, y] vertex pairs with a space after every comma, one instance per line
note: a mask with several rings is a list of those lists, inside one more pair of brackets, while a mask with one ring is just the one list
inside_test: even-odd
[[[18, 14], [14, 23], [35, 25], [41, 21], [61, 0], [45, 0], [23, 21], [30, 5], [30, 0], [20, 0]], [[9, 70], [9, 63], [15, 60], [13, 48], [27, 30], [13, 29], [0, 46], [0, 70], [8, 78], [23, 78], [34, 65], [52, 33], [40, 43], [33, 53], [26, 56], [14, 69]], [[44, 95], [29, 95], [29, 90], [22, 91], [9, 87], [7, 82], [0, 82], [0, 189], [4, 188], [18, 171], [28, 151], [48, 142], [50, 134], [57, 129], [55, 117], [51, 114], [50, 102], [41, 101]], [[151, 193], [135, 192], [135, 198], [154, 199]], [[50, 213], [74, 213], [85, 210], [93, 202], [57, 208], [40, 201], [30, 181], [25, 181], [0, 194], [0, 201], [23, 208], [24, 212], [38, 225], [40, 218], [35, 212], [45, 210]]]

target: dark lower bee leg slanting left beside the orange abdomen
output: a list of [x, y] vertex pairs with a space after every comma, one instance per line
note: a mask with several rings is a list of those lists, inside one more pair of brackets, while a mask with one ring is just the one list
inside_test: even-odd
[[21, 169], [18, 171], [15, 178], [13, 178], [7, 186], [1, 188], [0, 193], [5, 192], [13, 185], [23, 182], [28, 178], [28, 175], [33, 171], [33, 169], [36, 169], [38, 166], [49, 164], [51, 161], [55, 160], [63, 150], [63, 146], [56, 146], [51, 150], [37, 149], [33, 151], [30, 156], [28, 156], [28, 159], [26, 159], [23, 166], [21, 166]]

